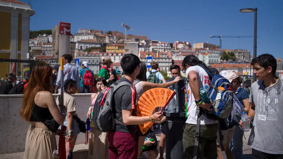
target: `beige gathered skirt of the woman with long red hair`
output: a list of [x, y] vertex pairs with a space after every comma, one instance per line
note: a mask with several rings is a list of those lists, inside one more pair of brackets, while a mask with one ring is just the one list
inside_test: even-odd
[[24, 159], [52, 159], [52, 153], [55, 149], [55, 133], [29, 126]]

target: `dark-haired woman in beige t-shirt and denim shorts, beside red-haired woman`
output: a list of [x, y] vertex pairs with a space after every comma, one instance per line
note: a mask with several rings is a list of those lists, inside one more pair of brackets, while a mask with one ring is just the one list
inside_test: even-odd
[[[76, 102], [75, 98], [72, 96], [77, 91], [77, 82], [75, 80], [67, 80], [64, 83], [64, 106], [67, 109], [67, 117], [64, 121], [64, 126], [67, 127], [66, 133], [67, 138], [66, 141], [70, 142], [71, 148], [70, 152], [73, 152], [75, 147], [75, 143], [80, 133], [80, 128], [78, 122], [73, 118], [73, 115], [76, 115]], [[56, 99], [57, 105], [59, 105], [59, 96]], [[69, 155], [69, 143], [66, 142], [66, 156]]]

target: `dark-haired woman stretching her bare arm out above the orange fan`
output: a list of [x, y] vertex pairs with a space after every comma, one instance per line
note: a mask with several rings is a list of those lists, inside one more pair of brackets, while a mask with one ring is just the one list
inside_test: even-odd
[[[167, 88], [170, 87], [172, 85], [174, 85], [175, 83], [179, 82], [181, 80], [181, 77], [176, 77], [175, 80], [170, 81], [170, 82], [164, 82], [164, 83], [151, 83], [151, 82], [147, 82], [147, 65], [144, 62], [140, 62], [140, 72], [139, 75], [136, 76], [135, 81], [133, 82], [133, 85], [135, 85], [136, 87], [136, 93], [138, 95], [137, 99], [139, 99], [139, 97], [141, 97], [141, 95], [147, 91], [150, 90], [152, 88], [157, 88], [157, 87], [162, 87], [162, 88]], [[165, 117], [162, 118], [162, 120], [160, 122], [156, 122], [156, 123], [162, 123], [165, 121]], [[139, 129], [139, 128], [138, 128]], [[142, 152], [142, 146], [144, 145], [144, 139], [147, 133], [142, 134], [140, 130], [139, 131], [139, 155], [138, 158]], [[150, 146], [153, 144], [153, 142], [146, 142], [148, 145]], [[157, 149], [156, 149], [157, 150]], [[158, 156], [158, 150], [152, 150], [149, 151], [149, 158], [157, 158]]]

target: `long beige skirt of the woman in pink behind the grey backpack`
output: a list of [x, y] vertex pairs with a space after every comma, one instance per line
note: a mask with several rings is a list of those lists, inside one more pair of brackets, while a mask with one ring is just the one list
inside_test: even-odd
[[91, 127], [88, 143], [88, 159], [108, 159], [108, 148], [107, 132], [101, 132]]

